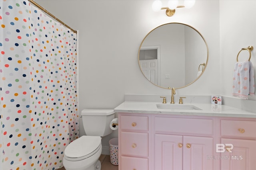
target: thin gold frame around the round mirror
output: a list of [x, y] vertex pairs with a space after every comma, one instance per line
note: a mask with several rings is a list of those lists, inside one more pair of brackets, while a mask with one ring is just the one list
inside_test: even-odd
[[[206, 69], [206, 66], [207, 66], [207, 64], [208, 64], [209, 49], [208, 49], [208, 45], [207, 45], [207, 43], [206, 43], [206, 40], [204, 39], [204, 37], [202, 36], [202, 34], [201, 34], [197, 29], [195, 29], [194, 27], [192, 27], [192, 26], [190, 26], [190, 25], [184, 24], [184, 23], [178, 23], [178, 22], [172, 22], [172, 23], [181, 24], [181, 25], [186, 25], [186, 26], [188, 26], [188, 27], [194, 29], [194, 30], [202, 37], [202, 39], [203, 39], [203, 41], [204, 41], [204, 43], [205, 43], [205, 45], [206, 45], [206, 51], [207, 51], [207, 59], [206, 59], [206, 63], [203, 63], [203, 64], [204, 64], [204, 68], [202, 69], [202, 73], [201, 73], [198, 77], [196, 77], [196, 79], [195, 79], [194, 81], [192, 81], [191, 83], [186, 84], [185, 86], [182, 86], [182, 87], [174, 87], [175, 89], [179, 89], [179, 88], [184, 88], [184, 87], [186, 87], [186, 86], [189, 86], [190, 84], [194, 83], [196, 80], [198, 80], [198, 78], [200, 78], [200, 77], [202, 76], [202, 74], [204, 73], [204, 70]], [[172, 23], [165, 23], [165, 24], [162, 24], [162, 25], [160, 25], [160, 26], [158, 26], [158, 27], [161, 27], [161, 26], [163, 26], [163, 25], [172, 24]], [[157, 29], [158, 27], [152, 29], [152, 30], [144, 37], [144, 39], [142, 40], [142, 42], [141, 42], [141, 44], [140, 44], [140, 48], [139, 48], [139, 51], [138, 51], [138, 64], [139, 64], [140, 70], [141, 70], [141, 72], [142, 72], [142, 74], [143, 74], [143, 76], [144, 76], [145, 78], [146, 78], [146, 76], [144, 75], [144, 73], [143, 73], [143, 71], [142, 71], [142, 68], [141, 68], [141, 66], [140, 66], [140, 49], [141, 49], [141, 47], [142, 47], [142, 44], [143, 44], [144, 40], [147, 38], [147, 36], [148, 36], [152, 31], [154, 31], [155, 29]], [[202, 65], [202, 64], [200, 64], [199, 67], [200, 67], [201, 65]], [[146, 78], [146, 79], [148, 80], [148, 78]], [[151, 82], [150, 80], [148, 80], [148, 81]], [[153, 82], [151, 82], [151, 83], [154, 84]], [[160, 87], [160, 88], [165, 88], [165, 89], [170, 89], [170, 88], [172, 88], [171, 86], [169, 86], [169, 87], [162, 87], [162, 86], [159, 86], [158, 84], [154, 84], [154, 85], [155, 85], [155, 86], [158, 86], [158, 87]]]

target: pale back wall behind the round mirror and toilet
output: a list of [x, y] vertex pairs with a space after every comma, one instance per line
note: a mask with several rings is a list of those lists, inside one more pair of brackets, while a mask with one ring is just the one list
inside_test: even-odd
[[[230, 96], [230, 81], [225, 81], [230, 85], [221, 83], [224, 81], [221, 75], [230, 70], [231, 66], [227, 67], [226, 64], [233, 65], [233, 63], [221, 57], [233, 59], [231, 53], [236, 55], [244, 45], [255, 44], [255, 42], [247, 42], [247, 36], [242, 36], [244, 44], [236, 45], [238, 47], [236, 49], [230, 45], [236, 43], [233, 41], [234, 38], [229, 36], [227, 38], [230, 40], [225, 39], [226, 43], [221, 42], [223, 47], [228, 46], [228, 50], [224, 52], [221, 48], [224, 55], [220, 54], [218, 0], [198, 0], [191, 9], [178, 8], [172, 17], [166, 16], [164, 10], [153, 12], [152, 0], [35, 1], [73, 29], [79, 30], [80, 111], [85, 108], [113, 109], [124, 101], [124, 94], [170, 94], [170, 90], [148, 82], [138, 65], [138, 49], [141, 41], [149, 31], [164, 23], [180, 22], [195, 27], [202, 33], [209, 47], [209, 61], [204, 74], [190, 86], [176, 90], [178, 95]], [[255, 4], [255, 2], [248, 3], [245, 5]], [[227, 4], [224, 5], [230, 8]], [[246, 8], [242, 8], [239, 13], [241, 10], [247, 12]], [[238, 21], [233, 16], [230, 16], [229, 20]], [[248, 21], [249, 24], [251, 22]], [[221, 23], [225, 24], [224, 21]], [[236, 27], [232, 28], [236, 29]], [[240, 34], [239, 31], [236, 33]], [[222, 32], [221, 35], [223, 34]], [[224, 62], [226, 64], [221, 64]], [[225, 73], [225, 77], [230, 76]], [[84, 135], [82, 121], [80, 121], [80, 135]], [[112, 136], [117, 136], [117, 131]], [[108, 139], [112, 136], [103, 139], [102, 145], [108, 146]]]

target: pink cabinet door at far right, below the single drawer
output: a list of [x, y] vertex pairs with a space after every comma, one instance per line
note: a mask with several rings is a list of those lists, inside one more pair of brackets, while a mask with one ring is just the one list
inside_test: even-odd
[[221, 170], [255, 170], [256, 141], [246, 139], [222, 138], [222, 144], [232, 144], [232, 153], [227, 150], [221, 154]]

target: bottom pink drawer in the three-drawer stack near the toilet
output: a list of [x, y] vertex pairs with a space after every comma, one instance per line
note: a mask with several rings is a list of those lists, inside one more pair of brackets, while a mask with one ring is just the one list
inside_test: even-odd
[[121, 170], [148, 170], [148, 159], [121, 156]]

